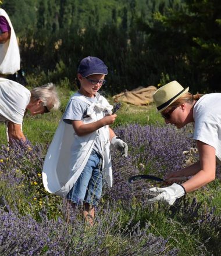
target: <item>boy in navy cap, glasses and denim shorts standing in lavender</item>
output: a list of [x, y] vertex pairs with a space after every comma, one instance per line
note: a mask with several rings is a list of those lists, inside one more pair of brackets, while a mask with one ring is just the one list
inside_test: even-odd
[[[94, 206], [101, 197], [103, 176], [112, 186], [109, 145], [115, 145], [127, 157], [127, 144], [109, 127], [115, 122], [116, 114], [112, 114], [112, 106], [98, 93], [106, 82], [106, 74], [108, 67], [101, 59], [91, 56], [82, 59], [77, 73], [80, 89], [70, 99], [63, 115], [63, 121], [74, 129], [70, 162], [72, 175], [77, 178], [66, 198], [73, 208], [84, 205], [84, 218], [91, 224]], [[83, 159], [87, 161], [79, 173], [77, 163]]]

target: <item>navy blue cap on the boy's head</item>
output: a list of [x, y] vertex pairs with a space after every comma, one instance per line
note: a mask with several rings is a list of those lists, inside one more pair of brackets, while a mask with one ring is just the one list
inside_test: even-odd
[[77, 73], [87, 77], [91, 74], [108, 74], [108, 67], [101, 59], [88, 56], [81, 60]]

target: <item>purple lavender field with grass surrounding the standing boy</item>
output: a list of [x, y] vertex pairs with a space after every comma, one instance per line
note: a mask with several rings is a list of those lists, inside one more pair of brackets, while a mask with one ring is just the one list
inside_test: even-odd
[[149, 187], [159, 183], [127, 183], [195, 161], [190, 129], [127, 125], [115, 133], [127, 141], [129, 157], [112, 149], [113, 188], [104, 187], [92, 227], [44, 190], [45, 144], [1, 145], [0, 255], [221, 255], [220, 169], [215, 182], [172, 207], [147, 204]]

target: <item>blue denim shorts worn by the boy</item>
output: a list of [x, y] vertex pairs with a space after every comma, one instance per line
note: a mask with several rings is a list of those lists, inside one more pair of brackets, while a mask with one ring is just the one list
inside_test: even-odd
[[102, 186], [102, 157], [95, 150], [92, 150], [83, 172], [81, 172], [66, 198], [78, 205], [85, 202], [98, 205]]

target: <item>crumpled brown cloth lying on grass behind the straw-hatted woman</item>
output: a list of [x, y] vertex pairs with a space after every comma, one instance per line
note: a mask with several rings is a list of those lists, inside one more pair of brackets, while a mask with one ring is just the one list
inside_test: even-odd
[[154, 101], [152, 95], [157, 88], [155, 86], [138, 87], [131, 91], [125, 91], [123, 93], [113, 96], [115, 102], [123, 101], [133, 105], [147, 105]]

